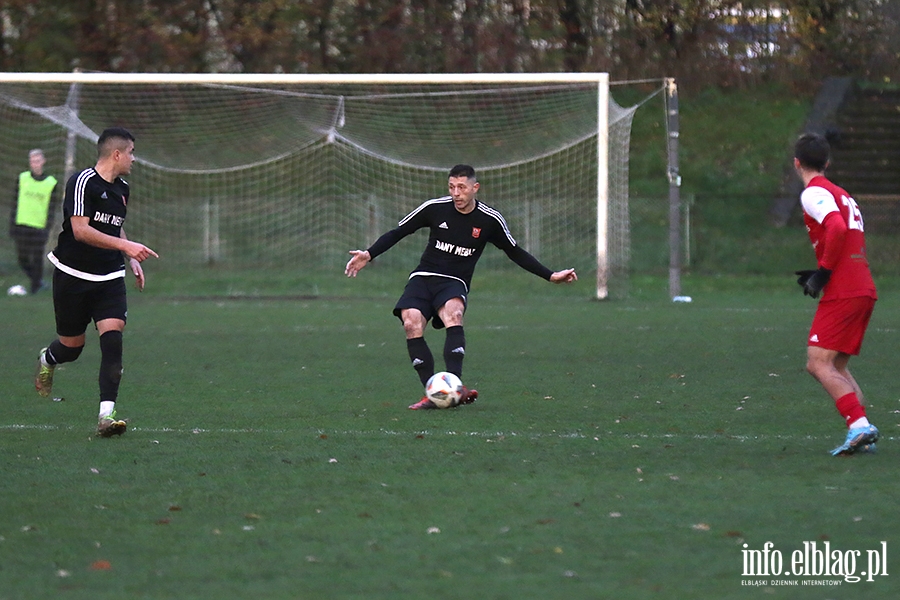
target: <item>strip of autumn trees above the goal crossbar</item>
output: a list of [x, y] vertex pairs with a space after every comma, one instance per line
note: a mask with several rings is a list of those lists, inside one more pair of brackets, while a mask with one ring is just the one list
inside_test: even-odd
[[0, 70], [890, 78], [895, 0], [0, 0]]

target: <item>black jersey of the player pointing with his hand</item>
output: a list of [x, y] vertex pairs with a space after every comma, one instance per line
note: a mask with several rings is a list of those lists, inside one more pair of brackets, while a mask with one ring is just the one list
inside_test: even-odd
[[66, 183], [63, 223], [56, 248], [48, 258], [59, 270], [79, 279], [107, 281], [125, 276], [125, 259], [119, 250], [97, 248], [75, 239], [72, 217], [89, 217], [90, 226], [121, 237], [128, 204], [128, 183], [121, 177], [106, 181], [93, 169], [76, 173]]

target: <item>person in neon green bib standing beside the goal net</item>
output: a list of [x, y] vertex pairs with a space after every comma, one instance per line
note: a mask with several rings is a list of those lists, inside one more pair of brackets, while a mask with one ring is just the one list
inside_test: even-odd
[[44, 173], [46, 162], [42, 150], [28, 153], [29, 170], [20, 173], [16, 180], [9, 223], [9, 236], [16, 244], [19, 266], [28, 277], [32, 294], [46, 287], [44, 248], [53, 226], [53, 213], [59, 206], [57, 181]]

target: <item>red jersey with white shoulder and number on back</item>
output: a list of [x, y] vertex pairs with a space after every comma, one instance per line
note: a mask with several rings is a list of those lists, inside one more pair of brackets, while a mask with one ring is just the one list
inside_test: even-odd
[[877, 298], [866, 257], [862, 214], [850, 194], [817, 175], [803, 190], [800, 202], [816, 261], [832, 271], [822, 300]]

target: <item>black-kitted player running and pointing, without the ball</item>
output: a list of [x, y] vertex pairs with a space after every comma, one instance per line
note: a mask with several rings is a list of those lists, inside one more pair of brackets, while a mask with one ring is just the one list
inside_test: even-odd
[[53, 271], [53, 310], [58, 338], [38, 359], [35, 388], [50, 395], [57, 365], [72, 362], [84, 349], [85, 331], [94, 322], [100, 335], [100, 413], [97, 435], [125, 433], [127, 423], [116, 417], [115, 403], [122, 378], [122, 331], [125, 301], [125, 259], [144, 289], [141, 262], [156, 252], [125, 236], [128, 183], [134, 136], [112, 127], [97, 140], [97, 164], [72, 175], [63, 200], [63, 228], [56, 248], [47, 256]]

